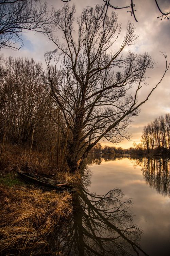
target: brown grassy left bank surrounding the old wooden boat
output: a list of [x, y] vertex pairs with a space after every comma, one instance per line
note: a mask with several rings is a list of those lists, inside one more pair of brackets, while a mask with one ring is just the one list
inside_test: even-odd
[[[8, 145], [1, 155], [0, 255], [41, 255], [44, 250], [47, 252], [52, 231], [67, 221], [72, 213], [70, 193], [43, 191], [19, 179], [16, 170], [18, 167], [24, 170], [28, 154], [26, 148]], [[55, 174], [53, 179], [69, 184], [80, 180], [79, 174], [56, 170], [50, 166], [48, 157], [34, 150], [30, 155], [29, 170], [37, 174]]]

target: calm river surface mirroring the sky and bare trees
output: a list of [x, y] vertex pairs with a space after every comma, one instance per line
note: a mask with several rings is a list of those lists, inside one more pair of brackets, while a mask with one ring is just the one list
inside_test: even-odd
[[56, 234], [64, 255], [170, 255], [168, 158], [89, 157], [83, 174]]

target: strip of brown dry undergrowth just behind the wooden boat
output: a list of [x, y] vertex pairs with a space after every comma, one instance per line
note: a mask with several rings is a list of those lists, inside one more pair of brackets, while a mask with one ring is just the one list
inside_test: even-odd
[[[0, 144], [0, 148], [2, 145]], [[26, 163], [28, 163], [29, 147], [23, 147], [22, 145], [7, 144], [6, 152], [3, 151], [0, 161], [0, 175], [3, 176], [7, 173], [16, 174], [18, 167], [23, 171], [26, 169]], [[29, 169], [30, 172], [37, 174], [46, 174], [53, 179], [61, 181], [63, 183], [77, 184], [80, 181], [80, 172], [70, 173], [67, 170], [67, 166], [61, 166], [56, 169], [55, 166], [51, 166], [50, 157], [47, 152], [38, 152], [32, 150], [30, 154]]]

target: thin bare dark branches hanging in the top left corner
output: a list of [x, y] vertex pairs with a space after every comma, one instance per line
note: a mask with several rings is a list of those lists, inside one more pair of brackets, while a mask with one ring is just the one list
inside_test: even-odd
[[37, 0], [0, 1], [0, 49], [15, 46], [22, 41], [21, 32], [28, 30], [49, 30], [52, 22], [53, 10], [49, 12], [46, 3]]

